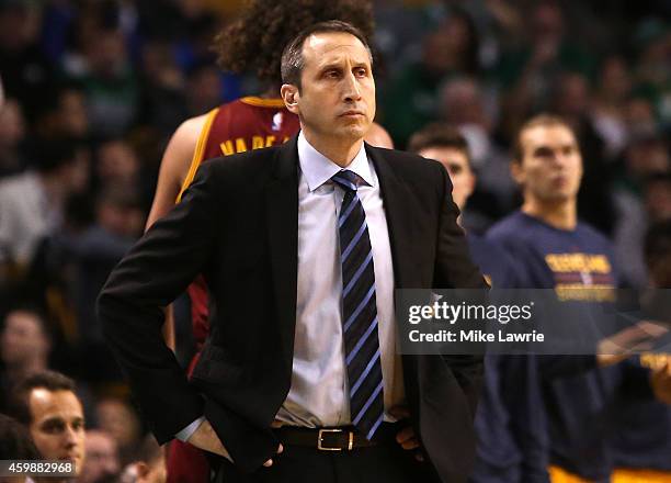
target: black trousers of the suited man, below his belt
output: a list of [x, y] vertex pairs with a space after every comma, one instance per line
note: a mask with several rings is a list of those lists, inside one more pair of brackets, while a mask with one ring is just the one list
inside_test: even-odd
[[352, 451], [320, 451], [284, 445], [273, 465], [243, 474], [220, 460], [214, 483], [440, 483], [433, 468], [413, 451], [388, 442]]

